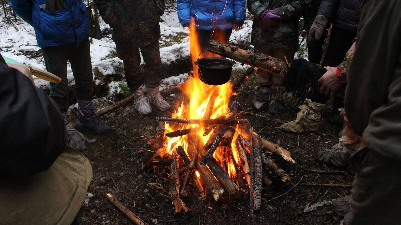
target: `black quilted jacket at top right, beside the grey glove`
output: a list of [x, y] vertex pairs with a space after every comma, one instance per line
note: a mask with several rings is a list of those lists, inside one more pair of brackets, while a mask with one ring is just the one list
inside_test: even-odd
[[361, 0], [322, 0], [318, 15], [326, 16], [338, 28], [358, 29]]

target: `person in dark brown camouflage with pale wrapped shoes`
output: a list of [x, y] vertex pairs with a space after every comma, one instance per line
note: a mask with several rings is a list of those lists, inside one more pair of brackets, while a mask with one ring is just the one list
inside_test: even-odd
[[[164, 14], [164, 0], [94, 0], [103, 20], [113, 28], [118, 58], [124, 61], [128, 87], [134, 92], [134, 108], [140, 115], [152, 112], [153, 104], [160, 111], [170, 105], [160, 95], [161, 59], [159, 51], [160, 16]], [[141, 73], [141, 56], [145, 72]], [[145, 96], [143, 85], [148, 96]]]

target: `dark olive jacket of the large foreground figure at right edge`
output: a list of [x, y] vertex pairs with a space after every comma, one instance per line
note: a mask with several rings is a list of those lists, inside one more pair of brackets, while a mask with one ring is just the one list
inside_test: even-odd
[[[401, 1], [364, 0], [345, 111], [367, 147], [401, 161]], [[378, 28], [380, 31], [378, 31]]]

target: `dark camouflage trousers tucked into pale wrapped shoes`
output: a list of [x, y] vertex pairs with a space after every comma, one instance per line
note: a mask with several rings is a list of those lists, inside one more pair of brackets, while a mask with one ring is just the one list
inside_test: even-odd
[[[161, 59], [159, 41], [155, 40], [151, 44], [144, 46], [127, 46], [115, 42], [118, 58], [124, 62], [124, 74], [127, 79], [128, 87], [137, 90], [143, 84], [148, 88], [154, 88], [161, 83]], [[141, 49], [144, 58], [144, 72], [141, 72]]]

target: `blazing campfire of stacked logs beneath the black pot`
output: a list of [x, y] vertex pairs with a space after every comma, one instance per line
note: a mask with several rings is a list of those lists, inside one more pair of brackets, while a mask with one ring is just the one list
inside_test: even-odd
[[[193, 22], [190, 31], [192, 62], [198, 57], [211, 56], [197, 46]], [[262, 183], [271, 185], [272, 176], [283, 182], [290, 180], [269, 155], [275, 153], [287, 161], [295, 161], [279, 143], [261, 139], [253, 132], [247, 119], [241, 118], [239, 104], [230, 101], [254, 68], [235, 84], [227, 82], [219, 86], [201, 82], [196, 65], [193, 68], [194, 76], [181, 88], [188, 102], [182, 101], [171, 118], [156, 118], [165, 121], [165, 129], [148, 143], [150, 149], [142, 168], [152, 161], [170, 166], [168, 192], [175, 213], [188, 211], [181, 197], [187, 195], [186, 186], [191, 180], [201, 199], [211, 195], [217, 201], [224, 193], [232, 196], [248, 192], [253, 215], [253, 210], [261, 205]]]

